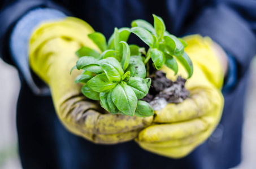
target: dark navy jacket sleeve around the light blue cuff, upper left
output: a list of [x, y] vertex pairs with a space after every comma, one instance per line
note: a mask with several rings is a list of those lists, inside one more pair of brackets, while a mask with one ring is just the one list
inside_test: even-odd
[[[1, 2], [3, 4], [3, 2]], [[9, 41], [12, 28], [16, 22], [28, 11], [34, 8], [53, 8], [62, 11], [66, 15], [71, 15], [63, 7], [48, 0], [15, 0], [5, 1], [0, 11], [0, 57], [8, 64], [14, 64], [10, 56]]]

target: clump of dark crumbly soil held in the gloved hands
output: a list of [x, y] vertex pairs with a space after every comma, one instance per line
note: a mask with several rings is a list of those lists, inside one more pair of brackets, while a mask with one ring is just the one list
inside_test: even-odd
[[186, 79], [180, 76], [173, 82], [166, 78], [166, 73], [158, 70], [151, 80], [149, 93], [142, 100], [150, 103], [154, 110], [164, 108], [167, 103], [181, 103], [189, 96]]

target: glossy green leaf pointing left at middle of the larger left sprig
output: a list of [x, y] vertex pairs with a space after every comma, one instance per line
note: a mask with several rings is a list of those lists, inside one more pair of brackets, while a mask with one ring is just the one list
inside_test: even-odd
[[117, 83], [110, 82], [105, 73], [98, 74], [86, 84], [96, 92], [109, 92]]

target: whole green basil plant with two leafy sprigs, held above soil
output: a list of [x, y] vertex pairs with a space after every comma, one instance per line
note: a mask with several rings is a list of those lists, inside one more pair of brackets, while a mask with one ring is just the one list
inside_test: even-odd
[[[177, 60], [191, 77], [192, 61], [184, 52], [186, 43], [166, 31], [162, 18], [154, 16], [154, 27], [145, 20], [134, 20], [132, 28], [115, 28], [106, 41], [102, 33], [94, 32], [88, 37], [98, 46], [101, 53], [92, 48], [82, 47], [76, 52], [79, 60], [71, 69], [84, 72], [78, 75], [75, 83], [84, 83], [83, 94], [92, 100], [100, 100], [102, 108], [112, 114], [149, 117], [154, 114], [150, 104], [142, 101], [149, 92], [151, 79], [146, 78], [148, 61], [159, 70], [165, 64], [175, 74]], [[128, 45], [133, 33], [149, 46], [145, 48]]]

